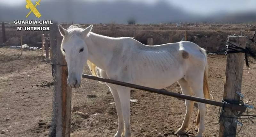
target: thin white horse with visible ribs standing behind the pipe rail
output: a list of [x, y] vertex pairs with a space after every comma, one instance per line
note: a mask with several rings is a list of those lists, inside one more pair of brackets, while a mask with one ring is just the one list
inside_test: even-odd
[[[129, 37], [111, 38], [71, 25], [68, 30], [59, 25], [63, 36], [61, 50], [68, 64], [68, 84], [78, 88], [84, 65], [95, 76], [100, 76], [142, 86], [163, 89], [178, 81], [183, 94], [209, 98], [207, 57], [204, 49], [195, 43], [181, 41], [157, 46], [147, 46]], [[131, 136], [130, 90], [131, 88], [106, 83], [115, 99], [118, 130], [115, 137]], [[188, 128], [194, 101], [185, 100], [186, 114], [182, 126], [176, 132], [184, 134]], [[204, 103], [198, 103], [197, 137], [204, 132]]]

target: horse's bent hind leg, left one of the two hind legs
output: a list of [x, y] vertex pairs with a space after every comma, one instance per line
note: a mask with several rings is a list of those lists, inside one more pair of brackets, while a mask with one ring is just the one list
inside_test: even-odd
[[[184, 78], [180, 79], [178, 81], [178, 83], [180, 84], [180, 88], [181, 88], [183, 94], [190, 95], [190, 96], [192, 95], [192, 92], [190, 91], [188, 82]], [[185, 130], [188, 128], [190, 115], [191, 115], [191, 112], [193, 111], [194, 101], [185, 99], [185, 105], [186, 105], [185, 118], [183, 120], [181, 127], [176, 132], [176, 134], [180, 134], [180, 135], [185, 134]]]

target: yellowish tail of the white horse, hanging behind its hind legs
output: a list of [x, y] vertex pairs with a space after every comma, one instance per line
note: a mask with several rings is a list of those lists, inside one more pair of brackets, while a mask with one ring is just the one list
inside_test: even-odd
[[[206, 54], [205, 54], [206, 56]], [[207, 56], [206, 56], [207, 58]], [[205, 65], [205, 68], [204, 68], [204, 86], [203, 86], [203, 89], [204, 89], [204, 98], [205, 99], [210, 99], [210, 91], [209, 91], [209, 83], [208, 83], [208, 65], [207, 65], [207, 61], [206, 61], [206, 65]], [[197, 112], [197, 118], [196, 118], [196, 126], [198, 126], [200, 122], [200, 112], [198, 110]]]

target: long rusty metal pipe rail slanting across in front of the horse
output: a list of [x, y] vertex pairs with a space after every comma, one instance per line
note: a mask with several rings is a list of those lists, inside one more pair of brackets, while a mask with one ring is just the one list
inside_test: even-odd
[[165, 90], [158, 90], [158, 89], [154, 89], [154, 88], [144, 87], [144, 86], [140, 86], [140, 85], [136, 85], [136, 84], [125, 83], [125, 82], [106, 79], [106, 78], [100, 78], [100, 77], [86, 75], [86, 74], [83, 74], [82, 77], [92, 79], [92, 80], [101, 81], [101, 82], [116, 84], [116, 85], [120, 85], [120, 86], [124, 86], [124, 87], [129, 87], [129, 88], [133, 88], [133, 89], [145, 90], [145, 91], [162, 94], [162, 95], [167, 95], [167, 96], [171, 96], [171, 97], [192, 100], [192, 101], [201, 102], [201, 103], [210, 104], [210, 105], [216, 105], [216, 106], [220, 106], [220, 107], [227, 107], [232, 110], [236, 110], [236, 111], [240, 111], [240, 112], [245, 112], [245, 110], [246, 110], [246, 106], [243, 106], [243, 105], [228, 104], [226, 102], [219, 102], [219, 101], [213, 101], [213, 100], [204, 99], [204, 98], [200, 98], [200, 97], [183, 95], [183, 94], [179, 94], [179, 93], [168, 92]]

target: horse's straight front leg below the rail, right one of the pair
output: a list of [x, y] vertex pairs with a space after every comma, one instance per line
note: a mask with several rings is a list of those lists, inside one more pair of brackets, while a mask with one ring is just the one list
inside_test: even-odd
[[131, 98], [131, 89], [121, 87], [117, 90], [121, 107], [124, 117], [125, 133], [124, 137], [131, 137], [131, 128], [130, 128], [130, 98]]

